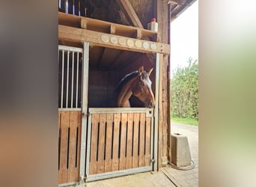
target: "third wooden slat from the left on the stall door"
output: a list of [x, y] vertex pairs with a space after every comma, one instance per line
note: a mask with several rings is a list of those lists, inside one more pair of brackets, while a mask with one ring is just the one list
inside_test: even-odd
[[112, 133], [114, 114], [107, 114], [105, 172], [112, 171]]

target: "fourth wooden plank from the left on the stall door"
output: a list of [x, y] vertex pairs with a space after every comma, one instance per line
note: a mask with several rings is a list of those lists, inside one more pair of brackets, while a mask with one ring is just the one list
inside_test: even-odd
[[119, 129], [120, 129], [121, 114], [114, 114], [114, 139], [112, 149], [112, 171], [119, 169]]

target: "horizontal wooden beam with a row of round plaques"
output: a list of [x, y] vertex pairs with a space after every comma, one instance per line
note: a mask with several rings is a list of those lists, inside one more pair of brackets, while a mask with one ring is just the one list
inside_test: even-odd
[[93, 46], [103, 46], [133, 52], [159, 52], [170, 54], [170, 45], [131, 37], [122, 37], [82, 28], [58, 25], [58, 39], [75, 43], [89, 42]]

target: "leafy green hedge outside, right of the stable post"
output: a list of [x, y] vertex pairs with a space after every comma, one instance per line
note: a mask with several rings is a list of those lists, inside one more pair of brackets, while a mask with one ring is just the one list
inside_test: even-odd
[[198, 120], [198, 60], [187, 62], [186, 67], [174, 70], [171, 79], [171, 112]]

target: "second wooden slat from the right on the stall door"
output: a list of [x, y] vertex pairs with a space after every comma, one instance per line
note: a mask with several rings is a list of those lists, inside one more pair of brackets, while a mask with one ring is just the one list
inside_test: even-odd
[[143, 167], [145, 165], [144, 156], [144, 135], [145, 135], [145, 113], [140, 115], [140, 128], [139, 128], [139, 155], [138, 155], [138, 167]]

